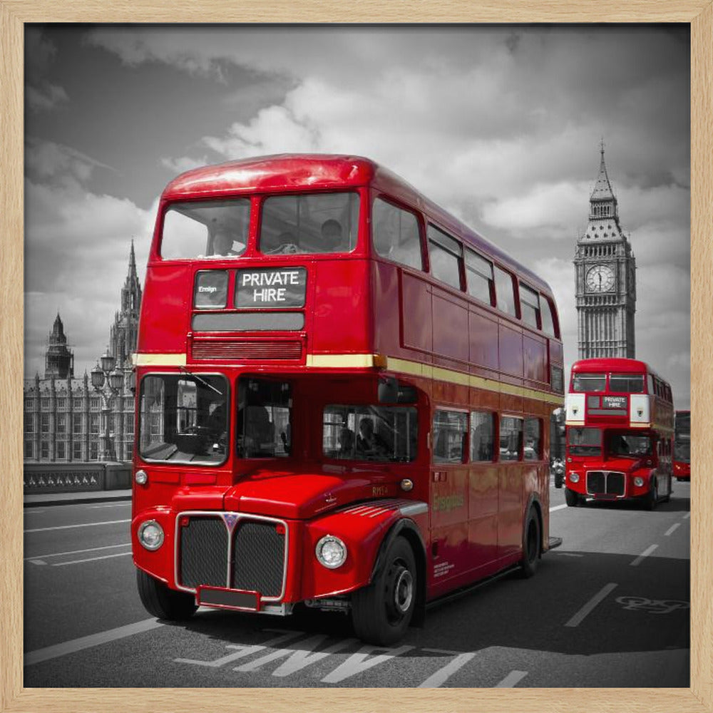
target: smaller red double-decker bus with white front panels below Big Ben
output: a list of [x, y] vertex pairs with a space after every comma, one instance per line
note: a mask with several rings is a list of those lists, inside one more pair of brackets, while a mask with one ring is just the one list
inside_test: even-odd
[[653, 510], [672, 491], [671, 387], [643, 361], [575, 361], [565, 401], [565, 498], [638, 500]]

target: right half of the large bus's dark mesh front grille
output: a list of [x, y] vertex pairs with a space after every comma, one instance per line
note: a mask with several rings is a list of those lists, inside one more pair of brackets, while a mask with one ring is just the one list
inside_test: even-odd
[[245, 519], [237, 524], [234, 538], [230, 586], [279, 597], [284, 580], [284, 528]]

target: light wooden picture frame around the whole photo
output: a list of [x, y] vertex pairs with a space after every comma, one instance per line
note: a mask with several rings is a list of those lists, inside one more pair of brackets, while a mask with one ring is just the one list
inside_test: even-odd
[[[234, 4], [111, 5], [98, 0], [0, 0], [0, 711], [109, 712], [219, 709], [373, 711], [378, 689], [25, 689], [23, 687], [22, 372], [23, 372], [23, 44], [25, 24], [81, 23], [657, 23], [691, 28], [691, 666], [682, 689], [399, 689], [391, 712], [646, 711], [713, 712], [713, 436], [707, 394], [713, 392], [713, 0], [243, 0]], [[709, 388], [711, 387], [711, 388]], [[712, 419], [713, 420], [713, 419]], [[706, 456], [706, 453], [709, 453]]]

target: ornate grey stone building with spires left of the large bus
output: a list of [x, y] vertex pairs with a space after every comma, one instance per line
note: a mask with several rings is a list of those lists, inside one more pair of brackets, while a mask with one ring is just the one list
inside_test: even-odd
[[[108, 413], [102, 396], [88, 374], [75, 378], [74, 357], [67, 345], [64, 325], [57, 314], [48, 339], [45, 373], [24, 382], [24, 458], [29, 463], [130, 461], [134, 442], [134, 394], [130, 380], [131, 353], [138, 334], [141, 287], [136, 274], [133, 242], [128, 275], [120, 295], [120, 309], [109, 331], [108, 354], [123, 371], [123, 387], [108, 396]], [[106, 416], [103, 422], [102, 416]], [[108, 432], [107, 453], [102, 438]]]

